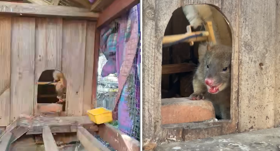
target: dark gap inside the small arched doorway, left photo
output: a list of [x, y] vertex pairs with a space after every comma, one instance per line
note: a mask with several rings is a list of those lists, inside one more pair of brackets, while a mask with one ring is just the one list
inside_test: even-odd
[[[41, 73], [38, 82], [46, 83], [38, 84], [37, 103], [57, 103], [59, 101], [57, 92], [55, 91], [55, 85], [48, 84], [55, 81], [53, 77], [54, 71], [55, 70], [45, 70]], [[64, 112], [66, 103], [63, 102], [62, 105], [62, 111]]]

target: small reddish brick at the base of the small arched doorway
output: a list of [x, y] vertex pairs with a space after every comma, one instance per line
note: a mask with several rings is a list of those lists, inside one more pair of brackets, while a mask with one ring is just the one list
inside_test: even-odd
[[55, 103], [40, 103], [37, 104], [36, 113], [52, 113], [52, 112], [62, 112], [62, 104]]

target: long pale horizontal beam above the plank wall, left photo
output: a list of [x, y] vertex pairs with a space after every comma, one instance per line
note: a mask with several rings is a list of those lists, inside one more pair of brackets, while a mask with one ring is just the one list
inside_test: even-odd
[[37, 4], [12, 3], [0, 1], [0, 14], [30, 17], [62, 17], [83, 20], [97, 20], [99, 13], [86, 8], [69, 6], [41, 6]]

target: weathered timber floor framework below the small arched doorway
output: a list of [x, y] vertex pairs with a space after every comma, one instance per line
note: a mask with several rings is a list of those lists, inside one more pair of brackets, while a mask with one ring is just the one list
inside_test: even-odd
[[87, 151], [110, 151], [93, 134], [99, 135], [114, 150], [140, 151], [139, 141], [109, 124], [95, 125], [87, 116], [20, 118], [7, 126], [0, 138], [0, 151], [8, 151], [10, 145], [23, 135], [42, 136], [45, 151], [58, 151], [53, 133], [76, 133], [76, 141], [80, 141]]

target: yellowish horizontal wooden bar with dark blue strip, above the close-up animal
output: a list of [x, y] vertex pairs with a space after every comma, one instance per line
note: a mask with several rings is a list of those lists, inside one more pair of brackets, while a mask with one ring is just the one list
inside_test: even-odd
[[203, 37], [194, 37], [194, 38], [190, 38], [185, 40], [185, 42], [196, 42], [196, 41], [206, 41], [207, 40], [207, 36], [209, 35], [209, 32], [192, 32], [192, 33], [186, 33], [186, 34], [176, 34], [176, 35], [168, 35], [168, 36], [164, 36], [163, 40], [162, 40], [162, 44], [169, 44], [175, 41], [179, 41], [183, 38], [186, 37], [190, 37], [193, 35], [198, 35], [198, 34], [203, 34]]

